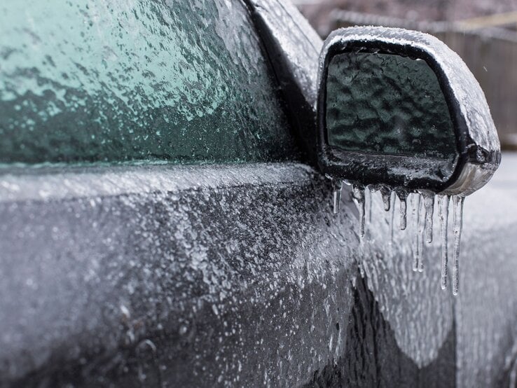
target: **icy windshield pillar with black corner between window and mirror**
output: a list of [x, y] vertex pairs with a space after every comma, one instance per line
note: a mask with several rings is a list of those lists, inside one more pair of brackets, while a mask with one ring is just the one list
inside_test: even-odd
[[316, 166], [317, 64], [323, 41], [289, 2], [243, 1], [280, 87], [294, 138], [305, 161]]

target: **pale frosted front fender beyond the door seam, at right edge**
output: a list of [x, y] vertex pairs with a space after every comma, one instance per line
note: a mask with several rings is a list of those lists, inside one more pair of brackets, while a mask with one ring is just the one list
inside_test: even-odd
[[517, 373], [516, 165], [517, 155], [504, 153], [490, 184], [465, 201], [456, 305], [459, 387], [515, 384], [510, 377]]

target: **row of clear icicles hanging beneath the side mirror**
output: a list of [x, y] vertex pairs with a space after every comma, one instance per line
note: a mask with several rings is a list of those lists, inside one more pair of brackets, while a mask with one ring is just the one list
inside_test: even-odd
[[[359, 235], [364, 237], [364, 204], [365, 204], [365, 187], [358, 184], [352, 184], [343, 181], [347, 185], [352, 185], [352, 199], [359, 209]], [[368, 186], [374, 191], [380, 191], [382, 202], [386, 212], [390, 210], [392, 189], [384, 186]], [[407, 200], [409, 193], [403, 188], [396, 188], [394, 192], [400, 201], [400, 221], [401, 230], [407, 226]], [[341, 195], [341, 185], [336, 186], [333, 192], [333, 211], [338, 213]], [[438, 197], [438, 212], [440, 220], [440, 236], [441, 236], [441, 288], [447, 288], [447, 265], [448, 265], [448, 216], [449, 216], [449, 195], [435, 195], [430, 191], [422, 190], [420, 193], [411, 195], [411, 218], [413, 227], [417, 231], [413, 242], [413, 270], [422, 272], [424, 270], [424, 251], [425, 243], [430, 244], [433, 240], [433, 214], [434, 214], [434, 198]], [[459, 291], [459, 258], [460, 258], [460, 240], [462, 235], [462, 219], [463, 219], [463, 203], [464, 197], [454, 195], [453, 199], [453, 233], [454, 233], [454, 251], [453, 251], [453, 294], [457, 295]], [[422, 216], [423, 207], [423, 216]], [[394, 211], [394, 209], [393, 209]]]

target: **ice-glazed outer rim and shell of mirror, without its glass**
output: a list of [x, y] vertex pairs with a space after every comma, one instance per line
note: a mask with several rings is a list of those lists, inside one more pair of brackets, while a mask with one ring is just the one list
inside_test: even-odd
[[[429, 65], [434, 67], [438, 78], [442, 80], [441, 88], [448, 98], [448, 102], [454, 106], [453, 109], [457, 112], [455, 115], [457, 116], [456, 130], [462, 133], [461, 137], [464, 137], [462, 139], [464, 144], [459, 150], [462, 162], [458, 163], [459, 167], [457, 167], [461, 167], [461, 170], [457, 171], [457, 178], [443, 189], [443, 193], [469, 195], [484, 186], [499, 165], [499, 139], [483, 91], [461, 58], [439, 39], [421, 32], [384, 27], [339, 29], [324, 42], [322, 54], [319, 57], [319, 85], [326, 82], [322, 79], [322, 75], [325, 74], [324, 67], [329, 50], [344, 49], [352, 43], [356, 48], [358, 45], [360, 48], [361, 43], [372, 44], [378, 48], [382, 48], [383, 45], [392, 45], [392, 48], [397, 48], [401, 52], [411, 48], [425, 53], [427, 60], [429, 57], [431, 58], [430, 62], [433, 63], [429, 63]], [[463, 132], [466, 133], [463, 134]], [[350, 168], [350, 166], [348, 167]], [[351, 170], [355, 171], [357, 168], [356, 165], [353, 165]], [[393, 173], [392, 179], [401, 180], [403, 175], [397, 175], [396, 171]], [[399, 184], [401, 183], [397, 183], [397, 185]]]

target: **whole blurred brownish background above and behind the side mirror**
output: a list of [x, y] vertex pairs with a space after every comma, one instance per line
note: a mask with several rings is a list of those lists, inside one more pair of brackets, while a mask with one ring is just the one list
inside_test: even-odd
[[379, 25], [437, 36], [485, 91], [503, 149], [517, 150], [517, 0], [293, 0], [322, 38]]

